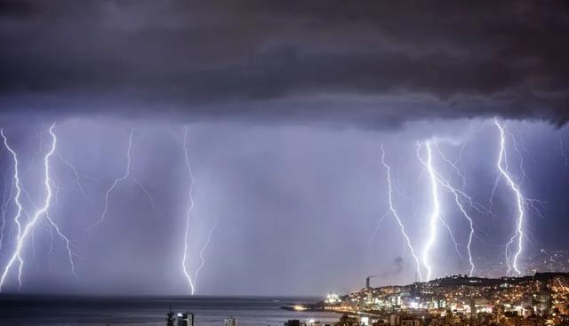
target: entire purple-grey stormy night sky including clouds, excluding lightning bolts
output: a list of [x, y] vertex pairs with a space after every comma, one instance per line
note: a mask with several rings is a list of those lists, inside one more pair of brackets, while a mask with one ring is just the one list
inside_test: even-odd
[[[535, 208], [525, 205], [519, 264], [531, 274], [540, 250], [569, 248], [568, 36], [564, 1], [0, 0], [0, 124], [19, 158], [21, 222], [44, 203], [55, 123], [48, 213], [77, 275], [43, 217], [22, 247], [20, 291], [188, 294], [190, 187], [196, 294], [322, 295], [372, 274], [413, 282], [385, 215], [381, 144], [421, 252], [433, 210], [417, 157], [426, 141], [440, 175], [482, 208], [467, 207], [474, 274], [507, 274], [516, 198], [502, 177], [491, 201], [494, 117], [504, 166]], [[0, 148], [1, 274], [18, 241], [14, 162]], [[461, 255], [437, 222], [433, 277], [467, 274], [468, 222], [438, 190]], [[17, 269], [4, 293], [19, 291]]]

